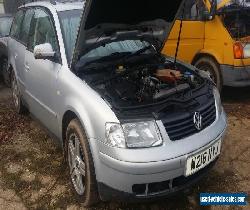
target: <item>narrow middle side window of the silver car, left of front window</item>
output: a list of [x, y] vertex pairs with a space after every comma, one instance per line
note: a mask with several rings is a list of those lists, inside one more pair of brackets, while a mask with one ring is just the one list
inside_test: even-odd
[[31, 23], [33, 15], [34, 15], [34, 10], [33, 9], [28, 9], [25, 12], [25, 15], [24, 15], [20, 40], [25, 45], [27, 45], [29, 31], [30, 31], [30, 23]]

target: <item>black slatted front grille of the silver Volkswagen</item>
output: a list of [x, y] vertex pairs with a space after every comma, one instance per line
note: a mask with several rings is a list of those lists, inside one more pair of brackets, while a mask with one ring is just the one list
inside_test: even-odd
[[[202, 116], [202, 129], [207, 128], [216, 119], [214, 99], [210, 100], [208, 104], [197, 108], [194, 112], [200, 112]], [[162, 120], [172, 141], [180, 140], [199, 132], [193, 122], [194, 112], [180, 113], [179, 115], [173, 115], [173, 117], [167, 117], [167, 119]]]

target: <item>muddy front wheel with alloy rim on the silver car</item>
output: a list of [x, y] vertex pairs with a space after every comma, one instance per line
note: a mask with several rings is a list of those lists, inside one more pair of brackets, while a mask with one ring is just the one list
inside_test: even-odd
[[72, 120], [66, 130], [65, 154], [74, 192], [85, 207], [99, 201], [96, 176], [89, 143], [79, 120]]

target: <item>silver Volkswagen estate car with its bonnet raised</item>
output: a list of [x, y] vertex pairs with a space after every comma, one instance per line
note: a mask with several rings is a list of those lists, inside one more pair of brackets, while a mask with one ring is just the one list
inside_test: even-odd
[[179, 192], [220, 155], [227, 123], [215, 85], [161, 54], [181, 5], [34, 2], [15, 16], [8, 47], [16, 110], [60, 140], [85, 206]]

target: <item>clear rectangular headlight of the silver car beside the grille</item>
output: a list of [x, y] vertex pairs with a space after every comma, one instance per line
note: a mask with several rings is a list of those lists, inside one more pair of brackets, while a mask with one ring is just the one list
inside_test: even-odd
[[162, 144], [161, 134], [155, 121], [106, 124], [106, 143], [119, 148], [146, 148]]

